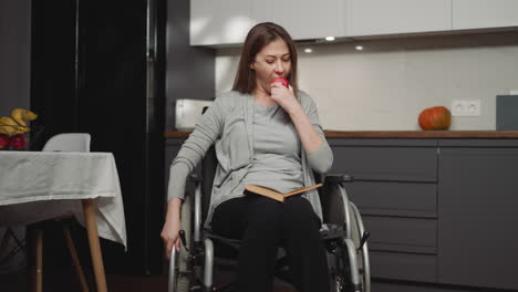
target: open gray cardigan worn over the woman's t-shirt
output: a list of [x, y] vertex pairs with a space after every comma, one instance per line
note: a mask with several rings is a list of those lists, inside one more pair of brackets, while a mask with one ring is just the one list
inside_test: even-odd
[[[320, 126], [317, 104], [304, 92], [298, 92], [299, 102], [323, 139], [323, 144], [313, 153], [307, 154], [301, 147], [301, 161], [304, 186], [314, 185], [313, 170], [328, 171], [333, 163], [333, 154]], [[185, 182], [207, 149], [215, 144], [218, 166], [213, 185], [210, 207], [206, 227], [210, 228], [214, 209], [219, 204], [236, 197], [242, 197], [244, 178], [251, 166], [253, 155], [253, 96], [239, 92], [228, 92], [218, 96], [201, 116], [195, 131], [184, 143], [170, 166], [168, 199], [184, 198]], [[317, 190], [302, 195], [314, 212], [322, 219], [322, 209]]]

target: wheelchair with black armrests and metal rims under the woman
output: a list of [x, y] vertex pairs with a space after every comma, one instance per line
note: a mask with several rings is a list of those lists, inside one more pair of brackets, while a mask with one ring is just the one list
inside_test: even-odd
[[[179, 251], [173, 249], [170, 254], [169, 292], [234, 291], [232, 283], [215, 284], [213, 275], [218, 265], [237, 265], [236, 254], [240, 242], [219, 237], [203, 228], [209, 208], [216, 165], [213, 146], [201, 160], [197, 174], [189, 176], [190, 188], [186, 189], [194, 189], [194, 196], [186, 196], [182, 208], [182, 248]], [[328, 255], [330, 292], [370, 292], [371, 274], [366, 242], [369, 232], [365, 231], [360, 212], [349, 200], [345, 190], [353, 179], [345, 175], [319, 175], [315, 178], [324, 181], [319, 191], [323, 213], [320, 233]], [[230, 249], [234, 253], [220, 255], [215, 252], [218, 249]], [[280, 254], [282, 255], [281, 249]], [[286, 263], [284, 257], [277, 259], [276, 278], [289, 283]]]

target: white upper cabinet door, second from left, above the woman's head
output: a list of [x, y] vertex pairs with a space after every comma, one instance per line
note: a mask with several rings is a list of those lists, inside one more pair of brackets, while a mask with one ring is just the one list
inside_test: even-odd
[[345, 35], [345, 0], [251, 1], [257, 23], [278, 23], [293, 40]]

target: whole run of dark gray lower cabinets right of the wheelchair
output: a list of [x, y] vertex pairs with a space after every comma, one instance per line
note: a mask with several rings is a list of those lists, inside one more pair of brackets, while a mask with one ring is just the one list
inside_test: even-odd
[[518, 139], [329, 142], [332, 173], [355, 178], [374, 292], [518, 289]]

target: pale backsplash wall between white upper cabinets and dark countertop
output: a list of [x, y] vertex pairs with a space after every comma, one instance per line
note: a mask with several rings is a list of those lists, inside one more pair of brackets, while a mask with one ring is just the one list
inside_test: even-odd
[[[363, 51], [354, 50], [362, 44]], [[423, 108], [480, 100], [452, 129], [495, 129], [496, 95], [518, 90], [518, 33], [478, 33], [299, 44], [299, 84], [327, 129], [413, 131]], [[303, 49], [312, 48], [311, 54]], [[219, 49], [216, 92], [230, 90], [239, 49]]]

